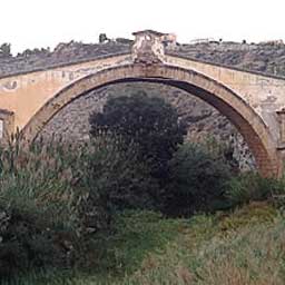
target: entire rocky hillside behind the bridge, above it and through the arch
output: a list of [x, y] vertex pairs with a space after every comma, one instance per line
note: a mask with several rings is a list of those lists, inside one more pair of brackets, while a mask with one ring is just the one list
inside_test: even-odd
[[[130, 41], [128, 40], [88, 45], [71, 41], [58, 45], [53, 51], [49, 49], [26, 50], [17, 57], [12, 57], [9, 52], [6, 55], [0, 52], [0, 77], [88, 58], [122, 53], [129, 49]], [[285, 45], [281, 42], [177, 45], [168, 52], [242, 69], [285, 76]], [[163, 96], [178, 108], [180, 116], [188, 124], [188, 139], [200, 141], [205, 140], [205, 137], [213, 136], [223, 142], [226, 141], [229, 149], [233, 149], [232, 155], [240, 169], [255, 167], [246, 142], [224, 116], [185, 91], [166, 88], [161, 85], [126, 83], [95, 90], [63, 108], [48, 122], [41, 135], [50, 137], [51, 134], [55, 134], [72, 141], [88, 138], [90, 112], [100, 111], [109, 96], [130, 95], [142, 89], [151, 96]]]

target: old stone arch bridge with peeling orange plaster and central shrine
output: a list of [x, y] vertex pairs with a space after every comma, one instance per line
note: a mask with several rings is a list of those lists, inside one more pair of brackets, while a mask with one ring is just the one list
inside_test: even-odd
[[281, 176], [285, 149], [285, 78], [165, 52], [164, 33], [135, 32], [132, 50], [0, 78], [0, 137], [20, 130], [32, 141], [78, 97], [129, 81], [164, 83], [199, 97], [239, 130], [263, 175]]

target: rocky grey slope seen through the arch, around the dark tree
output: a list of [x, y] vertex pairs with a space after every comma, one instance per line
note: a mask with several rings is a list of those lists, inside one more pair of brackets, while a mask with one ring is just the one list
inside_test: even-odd
[[180, 89], [158, 83], [117, 83], [91, 91], [61, 109], [40, 134], [45, 140], [52, 135], [68, 141], [89, 139], [89, 115], [101, 111], [112, 96], [132, 95], [144, 90], [150, 96], [163, 96], [186, 120], [187, 139], [199, 142], [213, 136], [233, 149], [233, 157], [242, 170], [255, 168], [254, 158], [236, 128], [216, 109]]

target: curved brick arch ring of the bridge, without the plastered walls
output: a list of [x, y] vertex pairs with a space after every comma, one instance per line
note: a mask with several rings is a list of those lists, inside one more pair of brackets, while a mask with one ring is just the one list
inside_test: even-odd
[[279, 176], [282, 161], [277, 156], [268, 127], [240, 96], [214, 79], [194, 70], [167, 65], [126, 65], [86, 76], [67, 86], [46, 102], [22, 129], [32, 141], [46, 124], [65, 106], [90, 90], [127, 81], [158, 82], [180, 88], [199, 97], [226, 116], [239, 130], [255, 156], [264, 176]]

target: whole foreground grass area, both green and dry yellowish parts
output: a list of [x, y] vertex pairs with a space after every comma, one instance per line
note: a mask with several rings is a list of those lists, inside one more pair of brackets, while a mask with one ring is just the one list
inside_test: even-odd
[[284, 217], [265, 203], [189, 219], [125, 212], [111, 237], [101, 240], [101, 264], [92, 272], [41, 272], [10, 284], [278, 285], [285, 279]]

